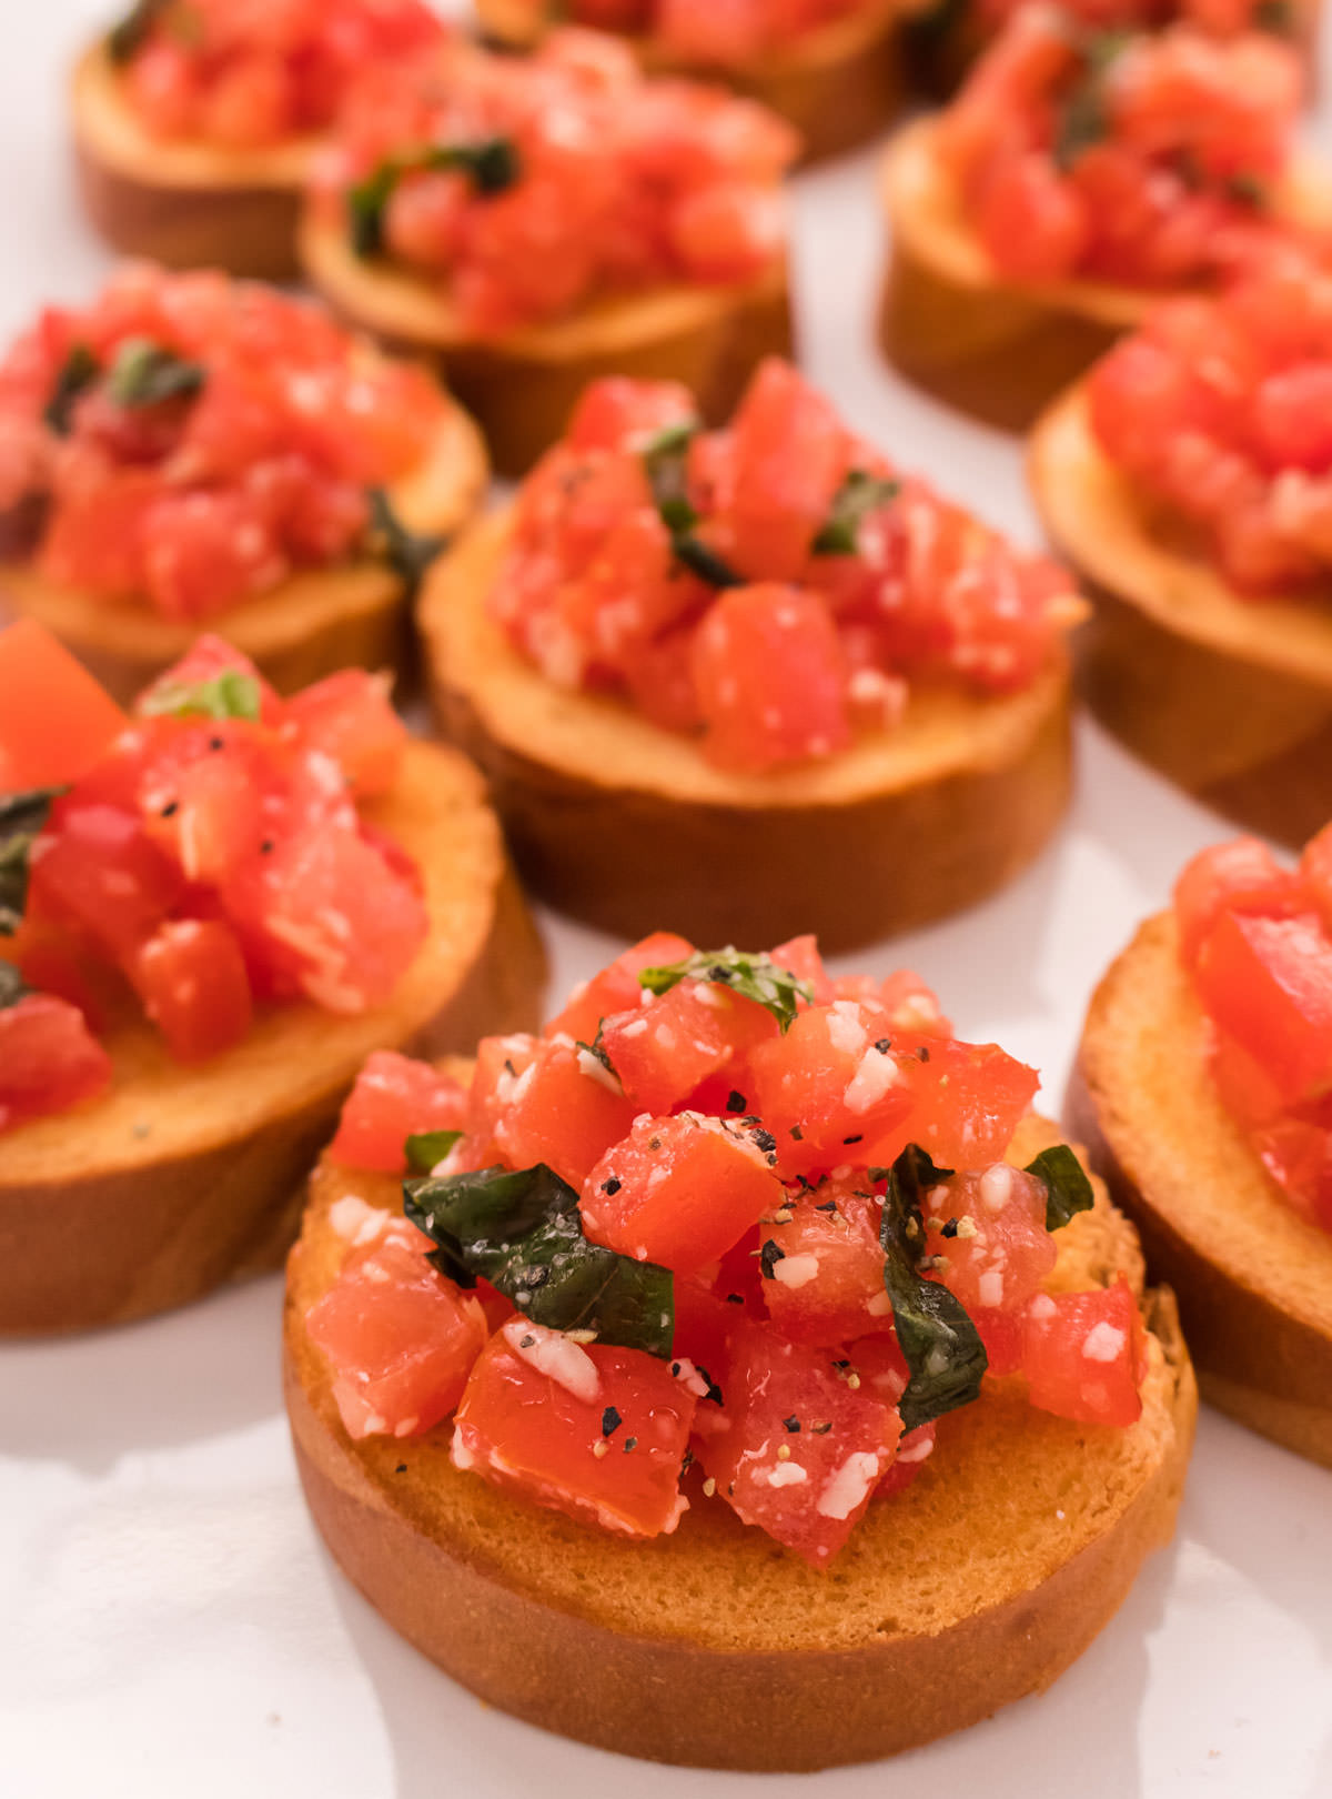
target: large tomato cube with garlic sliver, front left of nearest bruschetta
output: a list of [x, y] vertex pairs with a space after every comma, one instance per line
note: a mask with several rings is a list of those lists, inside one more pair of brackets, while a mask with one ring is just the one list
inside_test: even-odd
[[471, 1373], [453, 1463], [620, 1536], [662, 1536], [685, 1511], [694, 1407], [654, 1356], [512, 1319]]

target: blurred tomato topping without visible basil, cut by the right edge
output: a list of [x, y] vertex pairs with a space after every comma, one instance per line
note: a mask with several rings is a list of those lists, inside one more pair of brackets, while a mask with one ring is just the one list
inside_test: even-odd
[[1327, 583], [1332, 275], [1291, 252], [1215, 300], [1167, 300], [1088, 392], [1106, 455], [1197, 529], [1237, 594]]

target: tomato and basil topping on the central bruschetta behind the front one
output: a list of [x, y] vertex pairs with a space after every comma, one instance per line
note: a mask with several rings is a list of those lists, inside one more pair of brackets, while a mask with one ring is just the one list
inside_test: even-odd
[[593, 383], [521, 488], [489, 604], [548, 680], [733, 770], [892, 729], [913, 680], [1025, 687], [1077, 617], [1062, 568], [895, 473], [778, 360], [714, 432], [683, 387]]

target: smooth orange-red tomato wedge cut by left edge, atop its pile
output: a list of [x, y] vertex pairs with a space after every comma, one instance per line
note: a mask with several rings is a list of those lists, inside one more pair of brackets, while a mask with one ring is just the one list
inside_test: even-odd
[[0, 793], [86, 774], [126, 727], [111, 696], [45, 626], [0, 631]]

